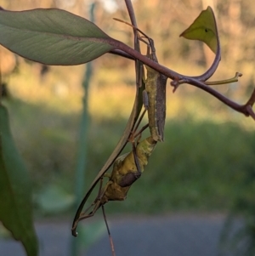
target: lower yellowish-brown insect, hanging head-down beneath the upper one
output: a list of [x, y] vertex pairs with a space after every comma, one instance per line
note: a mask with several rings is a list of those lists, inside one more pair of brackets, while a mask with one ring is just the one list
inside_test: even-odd
[[[133, 151], [119, 156], [113, 163], [111, 174], [105, 174], [104, 177], [108, 177], [109, 180], [102, 188], [102, 179], [99, 186], [99, 194], [94, 200], [93, 204], [84, 212], [80, 212], [79, 216], [75, 218], [72, 225], [72, 234], [77, 236], [77, 223], [82, 219], [87, 219], [94, 216], [94, 213], [109, 201], [122, 201], [127, 197], [133, 182], [139, 179], [144, 172], [144, 167], [148, 163], [148, 159], [155, 149], [156, 140], [152, 137], [148, 137], [138, 145], [133, 146]], [[88, 210], [93, 207], [93, 210], [88, 213]]]

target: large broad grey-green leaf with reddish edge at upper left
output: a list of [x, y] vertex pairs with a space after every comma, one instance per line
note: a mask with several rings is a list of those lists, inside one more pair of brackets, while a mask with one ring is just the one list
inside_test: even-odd
[[0, 10], [0, 44], [46, 65], [78, 65], [113, 47], [94, 23], [60, 9]]

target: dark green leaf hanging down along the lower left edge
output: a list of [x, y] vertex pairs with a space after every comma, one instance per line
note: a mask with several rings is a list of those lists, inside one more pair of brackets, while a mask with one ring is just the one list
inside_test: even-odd
[[28, 256], [38, 252], [32, 222], [31, 180], [14, 145], [8, 112], [0, 105], [0, 221], [20, 240]]

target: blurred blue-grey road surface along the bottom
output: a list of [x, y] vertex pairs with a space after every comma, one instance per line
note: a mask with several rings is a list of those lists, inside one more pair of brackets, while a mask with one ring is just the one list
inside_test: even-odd
[[[87, 221], [87, 220], [86, 220]], [[90, 220], [91, 221], [91, 220]], [[93, 220], [94, 221], [94, 220]], [[116, 256], [216, 256], [223, 215], [171, 214], [155, 217], [110, 218]], [[40, 256], [71, 256], [71, 223], [37, 223]], [[104, 228], [105, 229], [105, 228]], [[19, 242], [0, 240], [0, 256], [25, 256]], [[111, 256], [106, 231], [81, 256]]]

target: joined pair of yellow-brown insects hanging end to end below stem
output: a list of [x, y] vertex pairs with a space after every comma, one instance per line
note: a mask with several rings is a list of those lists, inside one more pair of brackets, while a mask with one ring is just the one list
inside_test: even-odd
[[[151, 58], [154, 61], [157, 61], [153, 40], [150, 39], [150, 37], [147, 37], [146, 35], [144, 36], [149, 40], [149, 45], [151, 48], [151, 53], [149, 51], [147, 53], [149, 55], [149, 58]], [[144, 84], [143, 82], [141, 83]], [[103, 168], [99, 172], [99, 174], [97, 175], [96, 179], [94, 179], [93, 184], [91, 185], [88, 193], [83, 198], [82, 203], [80, 204], [77, 210], [77, 214], [72, 225], [73, 236], [77, 236], [77, 223], [81, 219], [87, 219], [89, 217], [94, 216], [94, 213], [100, 207], [102, 207], [105, 218], [105, 202], [121, 201], [127, 197], [127, 191], [130, 189], [130, 186], [133, 184], [133, 182], [139, 179], [140, 175], [142, 174], [144, 166], [147, 164], [148, 158], [156, 146], [156, 142], [158, 140], [163, 140], [163, 131], [166, 117], [166, 83], [167, 77], [147, 67], [147, 78], [145, 80], [145, 88], [140, 88], [140, 91], [141, 89], [143, 89], [143, 102], [145, 111], [148, 111], [150, 137], [144, 139], [137, 146], [135, 146], [134, 141], [132, 141], [133, 151], [126, 155], [120, 156], [116, 159], [116, 161], [113, 164], [112, 173], [110, 175], [105, 175], [105, 172], [111, 166], [110, 163], [108, 163], [107, 168]], [[139, 97], [137, 99], [139, 100]], [[139, 105], [139, 103], [137, 105]], [[143, 115], [140, 117], [139, 122], [142, 120]], [[139, 126], [139, 122], [137, 127]], [[134, 129], [134, 131], [135, 130], [136, 129]], [[129, 141], [130, 138], [132, 137], [135, 138], [135, 136], [129, 136]], [[105, 187], [102, 188], [102, 179], [104, 176], [109, 177], [109, 181], [106, 183]], [[99, 180], [99, 195], [94, 200], [94, 203], [87, 210], [82, 212], [84, 204], [87, 202], [88, 197], [94, 190], [94, 187], [99, 182]], [[93, 209], [90, 210], [91, 208]], [[111, 240], [111, 234], [106, 219], [105, 224]], [[113, 255], [115, 255], [112, 241], [111, 248]]]

